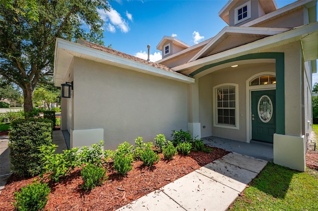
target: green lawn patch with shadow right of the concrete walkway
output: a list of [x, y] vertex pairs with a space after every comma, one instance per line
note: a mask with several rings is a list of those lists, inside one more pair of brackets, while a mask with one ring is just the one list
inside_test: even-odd
[[317, 211], [318, 170], [299, 172], [269, 162], [244, 194], [231, 210]]

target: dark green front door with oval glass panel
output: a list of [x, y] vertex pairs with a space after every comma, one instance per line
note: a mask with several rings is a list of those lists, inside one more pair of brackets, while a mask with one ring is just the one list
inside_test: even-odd
[[252, 140], [273, 143], [276, 132], [276, 90], [251, 92]]

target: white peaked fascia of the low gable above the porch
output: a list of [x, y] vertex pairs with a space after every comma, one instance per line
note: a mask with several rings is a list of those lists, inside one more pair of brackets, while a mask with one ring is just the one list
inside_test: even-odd
[[215, 42], [217, 42], [226, 33], [241, 33], [241, 34], [257, 34], [257, 35], [275, 35], [286, 32], [289, 28], [267, 28], [267, 27], [241, 27], [241, 26], [226, 26], [224, 27], [201, 51], [195, 54], [190, 60], [198, 59], [204, 52], [206, 52]]

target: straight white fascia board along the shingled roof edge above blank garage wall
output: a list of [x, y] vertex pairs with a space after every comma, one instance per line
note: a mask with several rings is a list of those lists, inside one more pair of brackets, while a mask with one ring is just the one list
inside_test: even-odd
[[[194, 78], [182, 75], [180, 73], [169, 72], [157, 67], [153, 67], [148, 64], [143, 64], [128, 58], [123, 58], [111, 53], [102, 52], [96, 49], [92, 49], [87, 46], [83, 46], [77, 43], [69, 42], [66, 40], [58, 40], [58, 48], [65, 49], [73, 53], [80, 53], [95, 57], [96, 59], [103, 59], [109, 62], [110, 65], [125, 67], [127, 69], [143, 72], [150, 75], [157, 75], [159, 77], [169, 78], [172, 80], [181, 81], [184, 83], [194, 83]], [[84, 57], [84, 56], [83, 56]], [[117, 64], [117, 65], [116, 65]]]

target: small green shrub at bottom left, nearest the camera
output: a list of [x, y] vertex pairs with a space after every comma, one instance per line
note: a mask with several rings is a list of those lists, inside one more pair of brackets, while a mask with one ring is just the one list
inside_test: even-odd
[[21, 188], [21, 192], [14, 192], [16, 203], [13, 203], [13, 206], [18, 211], [43, 210], [48, 202], [50, 191], [46, 183], [28, 184]]

